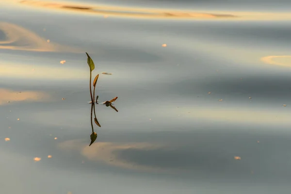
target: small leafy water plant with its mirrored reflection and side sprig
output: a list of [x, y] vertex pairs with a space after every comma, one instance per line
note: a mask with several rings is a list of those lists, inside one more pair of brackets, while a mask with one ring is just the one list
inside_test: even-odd
[[[91, 96], [91, 127], [92, 127], [92, 133], [90, 135], [90, 138], [91, 138], [91, 143], [89, 146], [91, 146], [95, 140], [97, 139], [97, 133], [94, 132], [94, 128], [93, 128], [93, 117], [92, 117], [92, 114], [93, 114], [93, 110], [94, 110], [94, 122], [95, 124], [98, 126], [98, 127], [101, 127], [101, 125], [99, 124], [98, 120], [97, 120], [97, 117], [96, 117], [96, 113], [95, 113], [95, 102], [96, 104], [98, 104], [97, 100], [98, 100], [98, 97], [96, 97], [96, 101], [94, 101], [95, 99], [95, 88], [96, 88], [96, 84], [97, 84], [97, 80], [99, 78], [99, 74], [97, 74], [97, 76], [95, 77], [94, 81], [93, 81], [93, 86], [94, 86], [94, 90], [93, 90], [93, 96], [92, 96], [92, 89], [91, 89], [91, 80], [92, 80], [92, 71], [95, 69], [95, 65], [94, 65], [94, 62], [93, 60], [91, 59], [91, 57], [88, 55], [88, 53], [86, 52], [86, 55], [87, 55], [87, 63], [90, 67], [90, 96]], [[105, 101], [103, 102], [103, 104], [105, 104], [107, 107], [110, 106], [111, 108], [113, 108], [116, 112], [118, 112], [118, 110], [112, 105], [112, 103], [117, 99], [118, 97], [114, 97], [112, 100], [108, 100], [108, 101]]]

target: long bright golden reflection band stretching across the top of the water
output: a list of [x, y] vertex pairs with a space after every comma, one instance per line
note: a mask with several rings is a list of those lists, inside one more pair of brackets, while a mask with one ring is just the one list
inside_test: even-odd
[[[1, 1], [1, 0], [0, 0]], [[3, 1], [3, 0], [2, 0]], [[4, 0], [5, 1], [5, 0]], [[229, 11], [189, 11], [109, 5], [76, 4], [57, 1], [11, 0], [16, 6], [27, 5], [44, 9], [108, 16], [121, 16], [147, 19], [227, 19], [227, 20], [291, 20], [291, 13], [271, 12], [229, 12]]]

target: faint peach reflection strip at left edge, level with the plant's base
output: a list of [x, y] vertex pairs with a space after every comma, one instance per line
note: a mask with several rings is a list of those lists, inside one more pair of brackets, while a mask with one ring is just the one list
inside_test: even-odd
[[0, 105], [7, 105], [15, 101], [46, 101], [49, 94], [37, 91], [13, 91], [0, 88]]

